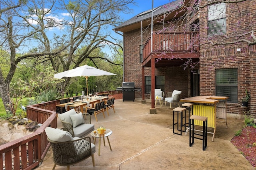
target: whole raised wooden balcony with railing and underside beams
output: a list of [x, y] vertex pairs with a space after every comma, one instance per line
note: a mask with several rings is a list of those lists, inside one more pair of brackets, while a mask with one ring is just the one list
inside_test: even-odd
[[[162, 32], [153, 31], [143, 48], [142, 66], [151, 67], [151, 59], [155, 59], [155, 67], [180, 66], [188, 59], [199, 61], [198, 32]], [[152, 41], [152, 52], [151, 52]], [[187, 59], [187, 60], [184, 60]]]

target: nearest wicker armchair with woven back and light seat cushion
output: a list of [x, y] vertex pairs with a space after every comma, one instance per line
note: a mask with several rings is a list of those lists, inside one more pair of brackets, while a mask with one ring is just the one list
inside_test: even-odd
[[[51, 131], [54, 131], [54, 129], [53, 130], [51, 129]], [[95, 145], [91, 143], [90, 137], [83, 137], [83, 138], [70, 137], [71, 139], [70, 141], [65, 140], [66, 137], [65, 139], [64, 138], [61, 139], [60, 137], [59, 140], [64, 141], [62, 142], [62, 141], [52, 141], [51, 139], [49, 139], [50, 138], [49, 133], [50, 132], [48, 132], [47, 140], [50, 142], [52, 146], [53, 162], [54, 162], [54, 167], [52, 168], [53, 170], [55, 169], [56, 165], [67, 166], [67, 170], [69, 170], [70, 165], [81, 162], [89, 157], [92, 157], [92, 164], [93, 166], [95, 166], [95, 162], [94, 162]]]

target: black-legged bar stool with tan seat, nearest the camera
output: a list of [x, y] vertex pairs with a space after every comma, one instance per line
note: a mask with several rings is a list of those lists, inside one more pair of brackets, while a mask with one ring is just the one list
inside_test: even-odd
[[[203, 121], [203, 134], [194, 133], [195, 120]], [[192, 129], [192, 133], [191, 133]], [[194, 135], [202, 136], [203, 138], [194, 137]], [[191, 142], [192, 138], [192, 142]], [[207, 117], [192, 115], [189, 117], [189, 146], [191, 147], [194, 144], [194, 138], [200, 139], [203, 141], [203, 150], [207, 147]]]

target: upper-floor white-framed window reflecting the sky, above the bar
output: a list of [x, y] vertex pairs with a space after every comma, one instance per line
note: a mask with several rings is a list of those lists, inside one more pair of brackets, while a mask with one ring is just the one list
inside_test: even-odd
[[226, 34], [226, 4], [211, 5], [208, 10], [208, 35]]

